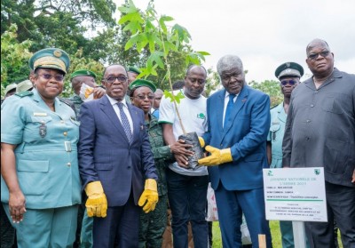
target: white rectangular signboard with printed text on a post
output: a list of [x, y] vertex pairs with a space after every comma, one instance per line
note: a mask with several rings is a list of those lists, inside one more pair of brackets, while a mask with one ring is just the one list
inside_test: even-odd
[[327, 221], [321, 167], [264, 169], [266, 220]]

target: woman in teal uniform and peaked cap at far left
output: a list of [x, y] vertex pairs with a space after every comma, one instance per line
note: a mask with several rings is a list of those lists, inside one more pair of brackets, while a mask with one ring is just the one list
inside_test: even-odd
[[29, 60], [35, 89], [2, 105], [1, 201], [20, 248], [71, 247], [75, 240], [79, 124], [58, 99], [69, 63], [60, 49], [36, 52]]

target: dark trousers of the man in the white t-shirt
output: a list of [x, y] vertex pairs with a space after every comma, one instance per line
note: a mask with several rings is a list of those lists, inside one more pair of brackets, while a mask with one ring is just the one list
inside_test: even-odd
[[206, 218], [208, 176], [185, 176], [167, 170], [168, 197], [172, 214], [174, 248], [188, 247], [188, 221], [193, 228], [195, 248], [208, 247]]

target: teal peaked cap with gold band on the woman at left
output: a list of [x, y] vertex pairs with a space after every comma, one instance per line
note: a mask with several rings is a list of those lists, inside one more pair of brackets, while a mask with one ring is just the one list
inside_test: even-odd
[[33, 70], [36, 70], [36, 68], [54, 68], [67, 74], [70, 60], [67, 52], [59, 48], [45, 48], [32, 55], [28, 64], [29, 68]]

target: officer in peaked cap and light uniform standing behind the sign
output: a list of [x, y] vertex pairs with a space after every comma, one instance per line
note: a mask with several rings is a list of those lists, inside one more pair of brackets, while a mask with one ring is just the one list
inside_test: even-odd
[[[271, 125], [267, 137], [267, 158], [271, 168], [282, 167], [282, 140], [288, 116], [291, 92], [300, 83], [304, 68], [295, 62], [286, 62], [276, 68], [275, 76], [280, 80], [283, 101], [270, 110]], [[295, 247], [292, 221], [280, 221], [280, 232], [283, 248]]]

